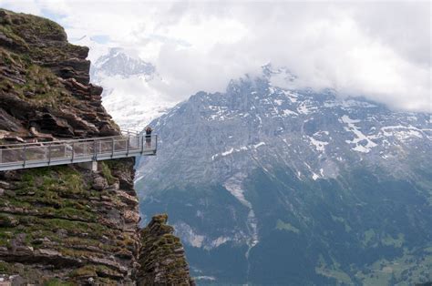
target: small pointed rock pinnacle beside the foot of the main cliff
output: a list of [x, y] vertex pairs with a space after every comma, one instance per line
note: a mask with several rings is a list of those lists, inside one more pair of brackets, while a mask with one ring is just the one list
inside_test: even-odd
[[193, 285], [180, 239], [167, 225], [168, 216], [154, 216], [141, 230], [139, 285]]

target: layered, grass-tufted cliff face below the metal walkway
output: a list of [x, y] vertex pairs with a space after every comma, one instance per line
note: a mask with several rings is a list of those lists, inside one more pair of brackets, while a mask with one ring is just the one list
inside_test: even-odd
[[[1, 173], [0, 273], [3, 267], [36, 284], [53, 277], [132, 282], [138, 201], [121, 199], [135, 196], [134, 189], [119, 189], [132, 169], [127, 178], [111, 174], [122, 166], [132, 167], [118, 160], [98, 172], [61, 166]], [[101, 182], [104, 188], [95, 188]]]

